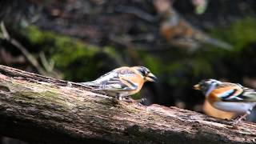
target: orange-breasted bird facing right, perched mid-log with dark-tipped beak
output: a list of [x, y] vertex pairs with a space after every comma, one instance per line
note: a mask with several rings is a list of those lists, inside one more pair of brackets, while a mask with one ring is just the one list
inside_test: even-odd
[[92, 86], [94, 90], [103, 90], [111, 97], [119, 100], [138, 93], [144, 82], [154, 82], [156, 77], [144, 66], [122, 66], [92, 82], [82, 82], [83, 85]]

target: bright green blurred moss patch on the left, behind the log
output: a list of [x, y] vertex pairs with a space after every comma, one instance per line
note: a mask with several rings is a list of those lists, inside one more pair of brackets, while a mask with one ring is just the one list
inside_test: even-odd
[[24, 34], [32, 44], [39, 45], [44, 50], [48, 49], [51, 58], [58, 66], [68, 66], [77, 58], [93, 57], [99, 51], [97, 46], [86, 45], [75, 38], [54, 34], [54, 32], [42, 31], [36, 26], [29, 26], [24, 30]]

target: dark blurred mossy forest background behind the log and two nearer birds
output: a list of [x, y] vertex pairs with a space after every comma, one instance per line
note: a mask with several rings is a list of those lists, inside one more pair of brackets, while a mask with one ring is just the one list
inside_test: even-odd
[[215, 78], [256, 88], [255, 14], [254, 0], [2, 0], [0, 64], [72, 82], [146, 66], [158, 82], [134, 95], [145, 105], [230, 119], [193, 86]]

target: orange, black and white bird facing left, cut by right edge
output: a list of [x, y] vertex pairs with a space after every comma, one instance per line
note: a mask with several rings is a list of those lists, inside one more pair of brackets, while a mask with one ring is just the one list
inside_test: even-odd
[[194, 89], [202, 90], [206, 100], [216, 109], [243, 114], [234, 124], [250, 114], [256, 105], [256, 90], [240, 84], [206, 79], [195, 85]]

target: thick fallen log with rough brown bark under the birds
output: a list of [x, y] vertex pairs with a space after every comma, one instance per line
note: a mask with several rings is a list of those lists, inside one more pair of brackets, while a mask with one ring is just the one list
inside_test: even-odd
[[139, 106], [88, 87], [0, 66], [0, 134], [59, 143], [254, 143], [256, 126]]

